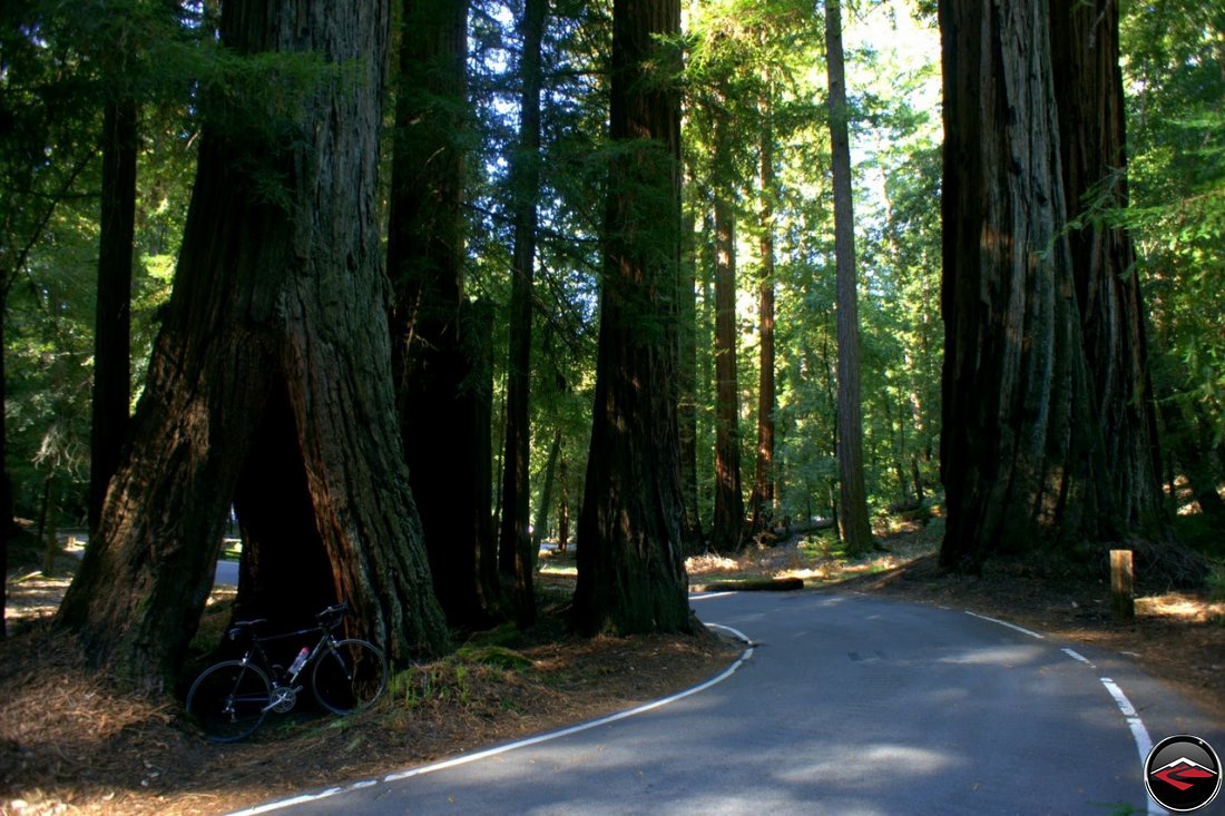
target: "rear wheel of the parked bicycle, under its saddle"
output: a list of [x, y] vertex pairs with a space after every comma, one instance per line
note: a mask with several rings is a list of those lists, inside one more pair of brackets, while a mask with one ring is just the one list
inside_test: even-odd
[[208, 739], [234, 742], [260, 727], [272, 684], [258, 667], [225, 660], [205, 669], [187, 692], [187, 714]]

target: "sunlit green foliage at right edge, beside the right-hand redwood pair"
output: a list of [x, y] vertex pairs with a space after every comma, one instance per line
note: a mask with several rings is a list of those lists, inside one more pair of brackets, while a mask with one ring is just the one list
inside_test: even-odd
[[[1225, 70], [1220, 12], [1187, 0], [1122, 6], [1131, 229], [1152, 309], [1158, 396], [1225, 441]], [[1215, 15], [1215, 16], [1214, 16]], [[1161, 359], [1164, 358], [1164, 359]], [[1174, 429], [1177, 430], [1177, 429]]]

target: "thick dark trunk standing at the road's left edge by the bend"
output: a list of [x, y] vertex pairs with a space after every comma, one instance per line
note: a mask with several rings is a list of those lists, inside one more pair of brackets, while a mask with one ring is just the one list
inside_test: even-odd
[[614, 0], [609, 123], [617, 149], [573, 604], [576, 629], [588, 633], [695, 629], [673, 398], [681, 55], [668, 38], [679, 32], [679, 0]]

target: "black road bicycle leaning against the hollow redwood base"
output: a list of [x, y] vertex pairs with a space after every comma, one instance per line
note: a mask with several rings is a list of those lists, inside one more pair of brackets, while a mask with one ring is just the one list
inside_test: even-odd
[[[298, 678], [307, 668], [315, 700], [337, 714], [369, 707], [387, 687], [387, 658], [372, 643], [333, 636], [348, 603], [328, 606], [315, 615], [317, 626], [284, 635], [261, 636], [267, 619], [238, 621], [232, 641], [250, 638], [241, 658], [214, 663], [196, 678], [187, 691], [186, 711], [214, 742], [234, 742], [260, 728], [270, 711], [288, 713], [298, 703], [303, 685]], [[271, 663], [263, 644], [301, 635], [320, 633], [314, 648], [304, 646], [288, 669]]]

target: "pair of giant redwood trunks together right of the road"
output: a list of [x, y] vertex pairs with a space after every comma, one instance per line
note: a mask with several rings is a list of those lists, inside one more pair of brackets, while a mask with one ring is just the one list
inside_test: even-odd
[[1153, 437], [1129, 250], [1068, 229], [1068, 207], [1122, 165], [1117, 9], [944, 0], [940, 12], [941, 561], [974, 570], [998, 553], [1147, 533]]

